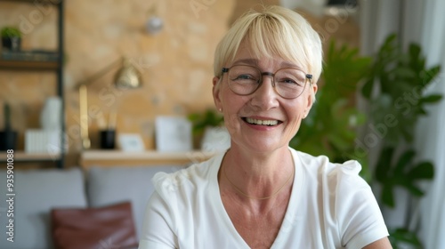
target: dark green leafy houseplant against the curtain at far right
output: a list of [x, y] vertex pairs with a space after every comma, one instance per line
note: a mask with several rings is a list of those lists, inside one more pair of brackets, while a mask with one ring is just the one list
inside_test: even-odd
[[[433, 179], [433, 164], [417, 162], [413, 141], [418, 119], [428, 115], [425, 107], [442, 98], [440, 94], [425, 96], [426, 87], [440, 71], [440, 66], [425, 66], [418, 44], [409, 44], [405, 51], [394, 34], [386, 38], [370, 67], [361, 93], [368, 100], [370, 124], [380, 125], [381, 146], [373, 181], [381, 187], [381, 205], [389, 208], [397, 205], [396, 189], [405, 189], [412, 198], [422, 197], [424, 192], [419, 188], [419, 181]], [[378, 94], [375, 89], [379, 90]], [[392, 122], [385, 123], [388, 119]], [[416, 231], [409, 230], [408, 226], [390, 228], [390, 233], [394, 248], [403, 244], [422, 248]]]

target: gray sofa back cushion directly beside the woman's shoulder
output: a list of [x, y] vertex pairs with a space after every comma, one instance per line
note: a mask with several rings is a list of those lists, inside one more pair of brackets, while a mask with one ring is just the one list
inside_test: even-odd
[[154, 187], [151, 183], [155, 173], [173, 173], [181, 166], [132, 166], [92, 167], [87, 174], [87, 191], [92, 207], [131, 201], [134, 224], [138, 238], [141, 237], [145, 207]]

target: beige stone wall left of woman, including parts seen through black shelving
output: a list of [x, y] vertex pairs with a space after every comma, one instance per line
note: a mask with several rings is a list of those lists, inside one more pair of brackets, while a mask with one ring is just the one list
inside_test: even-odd
[[[227, 0], [66, 1], [64, 88], [71, 157], [80, 151], [77, 84], [120, 56], [141, 69], [143, 86], [128, 91], [113, 88], [117, 68], [89, 84], [93, 148], [98, 147], [101, 119], [110, 112], [117, 112], [119, 133], [140, 133], [146, 148], [153, 149], [156, 116], [187, 115], [212, 107], [214, 47], [228, 28], [234, 6]], [[165, 21], [156, 36], [144, 31], [153, 8]], [[20, 25], [28, 33], [23, 49], [54, 49], [56, 17], [56, 10], [48, 6], [0, 3], [0, 27]], [[20, 131], [19, 149], [23, 149], [23, 132], [39, 127], [44, 100], [55, 94], [55, 76], [2, 70], [0, 83], [0, 99], [12, 104], [12, 124]]]

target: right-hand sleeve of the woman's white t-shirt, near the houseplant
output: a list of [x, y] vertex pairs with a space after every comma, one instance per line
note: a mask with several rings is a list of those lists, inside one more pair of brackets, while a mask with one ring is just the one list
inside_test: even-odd
[[360, 175], [361, 166], [348, 161], [337, 166], [336, 219], [346, 248], [363, 248], [387, 237], [388, 230], [376, 197]]

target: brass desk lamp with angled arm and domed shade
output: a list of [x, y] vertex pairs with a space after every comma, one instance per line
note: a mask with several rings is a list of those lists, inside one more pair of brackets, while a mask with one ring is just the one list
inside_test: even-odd
[[91, 141], [88, 135], [88, 100], [87, 100], [87, 84], [91, 84], [97, 79], [104, 76], [111, 69], [120, 65], [119, 70], [114, 76], [114, 85], [120, 89], [138, 88], [142, 85], [141, 72], [134, 67], [130, 60], [121, 58], [109, 64], [106, 68], [101, 69], [95, 75], [89, 77], [79, 85], [79, 109], [80, 109], [80, 138], [82, 139], [82, 148], [90, 149]]

